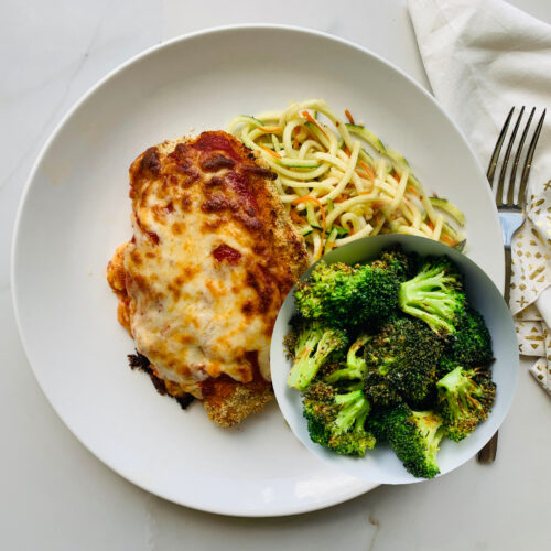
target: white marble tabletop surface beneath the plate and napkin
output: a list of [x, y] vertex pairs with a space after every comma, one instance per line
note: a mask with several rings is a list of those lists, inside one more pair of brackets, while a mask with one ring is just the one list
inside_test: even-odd
[[[548, 0], [512, 3], [551, 22]], [[298, 517], [236, 519], [175, 506], [89, 454], [39, 389], [14, 326], [9, 252], [17, 205], [45, 139], [74, 101], [129, 56], [177, 34], [250, 22], [320, 29], [426, 85], [404, 0], [4, 0], [0, 20], [0, 548], [6, 550], [551, 548], [551, 400], [522, 361], [497, 462], [379, 487]], [[37, 306], [40, 307], [40, 306]], [[468, 528], [466, 528], [468, 526]]]

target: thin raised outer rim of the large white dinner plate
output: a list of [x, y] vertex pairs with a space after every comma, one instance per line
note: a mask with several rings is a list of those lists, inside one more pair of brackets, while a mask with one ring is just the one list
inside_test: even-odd
[[[50, 400], [47, 393], [44, 390], [41, 377], [36, 372], [33, 364], [31, 363], [29, 358], [29, 344], [25, 337], [25, 334], [23, 332], [23, 326], [22, 326], [22, 320], [21, 320], [21, 314], [19, 310], [19, 303], [18, 303], [18, 288], [19, 283], [15, 278], [15, 266], [18, 263], [18, 241], [19, 241], [19, 235], [20, 235], [20, 229], [21, 229], [21, 222], [22, 222], [22, 216], [23, 216], [23, 209], [28, 199], [29, 192], [31, 190], [32, 183], [36, 176], [36, 173], [39, 171], [39, 168], [41, 166], [46, 153], [50, 151], [52, 144], [56, 140], [57, 136], [61, 133], [62, 129], [66, 125], [66, 122], [73, 117], [73, 115], [82, 107], [83, 104], [87, 101], [88, 98], [90, 98], [98, 89], [100, 89], [105, 84], [107, 84], [112, 77], [118, 75], [119, 73], [123, 72], [127, 67], [133, 65], [134, 63], [141, 61], [142, 58], [153, 55], [156, 52], [171, 47], [174, 44], [186, 42], [188, 40], [193, 40], [195, 37], [199, 36], [205, 36], [209, 34], [216, 34], [216, 33], [225, 33], [225, 32], [236, 32], [236, 31], [247, 31], [247, 30], [272, 30], [272, 31], [285, 31], [285, 32], [293, 32], [298, 34], [307, 34], [307, 35], [313, 35], [317, 37], [322, 37], [324, 40], [328, 40], [331, 42], [336, 42], [343, 45], [346, 45], [348, 47], [352, 47], [356, 51], [359, 51], [364, 55], [370, 56], [378, 62], [382, 63], [383, 65], [390, 67], [398, 74], [400, 74], [403, 78], [406, 78], [411, 85], [413, 85], [421, 94], [423, 94], [430, 102], [434, 106], [434, 108], [439, 109], [441, 114], [447, 119], [447, 121], [452, 125], [454, 130], [460, 134], [462, 141], [464, 142], [465, 147], [469, 151], [469, 153], [473, 156], [473, 160], [475, 161], [475, 164], [478, 166], [480, 174], [484, 175], [484, 170], [478, 161], [478, 158], [471, 145], [471, 143], [467, 141], [466, 136], [462, 131], [462, 129], [455, 123], [455, 121], [447, 115], [447, 112], [443, 109], [443, 107], [440, 105], [440, 102], [434, 98], [432, 94], [428, 89], [425, 89], [421, 84], [419, 84], [413, 77], [408, 75], [403, 69], [398, 67], [395, 63], [386, 60], [381, 55], [372, 52], [371, 50], [361, 46], [353, 41], [349, 41], [347, 39], [336, 36], [334, 34], [324, 32], [324, 31], [318, 31], [315, 29], [310, 29], [310, 28], [304, 28], [300, 25], [288, 25], [288, 24], [268, 24], [268, 23], [244, 23], [244, 24], [229, 24], [229, 25], [217, 25], [217, 26], [212, 26], [207, 29], [203, 29], [199, 31], [191, 32], [191, 33], [185, 33], [181, 34], [177, 36], [174, 36], [168, 41], [161, 42], [159, 44], [154, 44], [153, 46], [150, 46], [138, 54], [134, 54], [133, 56], [129, 57], [125, 62], [120, 63], [101, 78], [99, 78], [94, 85], [91, 85], [74, 104], [72, 107], [68, 108], [68, 110], [65, 112], [65, 115], [62, 116], [57, 125], [54, 127], [47, 139], [44, 141], [39, 154], [36, 155], [36, 159], [31, 168], [31, 171], [29, 173], [29, 176], [26, 177], [25, 184], [23, 186], [23, 191], [21, 193], [19, 204], [18, 204], [18, 209], [17, 209], [17, 215], [15, 215], [15, 220], [13, 224], [13, 235], [11, 239], [11, 253], [10, 253], [10, 288], [11, 288], [11, 299], [12, 299], [12, 304], [13, 304], [13, 312], [14, 312], [14, 317], [15, 317], [15, 325], [18, 328], [19, 337], [21, 339], [21, 345], [25, 355], [25, 358], [31, 367], [31, 370], [34, 375], [34, 378], [36, 379], [39, 387], [46, 398], [47, 402], [50, 406], [53, 408], [57, 417], [63, 421], [65, 426], [69, 430], [69, 432], [76, 437], [76, 440], [86, 449], [88, 450], [98, 461], [104, 463], [107, 467], [109, 467], [112, 472], [117, 473], [119, 476], [125, 478], [126, 480], [130, 482], [134, 486], [138, 486], [140, 489], [143, 489], [150, 494], [153, 494], [154, 496], [161, 497], [163, 499], [166, 499], [169, 501], [175, 503], [177, 505], [184, 506], [184, 507], [190, 507], [196, 510], [205, 511], [205, 512], [212, 512], [212, 514], [217, 514], [217, 515], [226, 515], [226, 516], [234, 516], [234, 517], [280, 517], [280, 516], [287, 516], [287, 515], [298, 515], [298, 514], [305, 514], [310, 511], [315, 511], [315, 510], [321, 510], [325, 509], [327, 507], [332, 507], [334, 505], [338, 505], [345, 501], [348, 501], [350, 499], [354, 499], [360, 495], [366, 494], [367, 491], [370, 491], [371, 489], [375, 489], [378, 487], [378, 484], [374, 483], [368, 483], [365, 480], [357, 480], [358, 484], [354, 489], [344, 491], [342, 495], [336, 496], [335, 498], [329, 498], [329, 499], [323, 499], [321, 501], [311, 501], [307, 504], [298, 504], [294, 507], [276, 507], [270, 510], [262, 510], [262, 511], [256, 511], [251, 510], [250, 508], [242, 508], [239, 510], [229, 510], [228, 508], [225, 507], [216, 507], [216, 506], [205, 506], [202, 505], [201, 503], [194, 503], [194, 499], [187, 499], [183, 500], [180, 498], [176, 498], [175, 496], [168, 496], [166, 494], [162, 495], [158, 490], [151, 489], [150, 485], [140, 480], [134, 479], [134, 477], [131, 474], [123, 474], [121, 473], [118, 468], [112, 466], [111, 462], [105, 458], [101, 455], [98, 455], [96, 452], [90, 450], [88, 445], [83, 441], [83, 439], [79, 436], [78, 431], [75, 430], [72, 425], [71, 422], [68, 422], [65, 418], [65, 415], [62, 415], [57, 409], [57, 407]], [[487, 193], [490, 193], [489, 186], [487, 188]], [[497, 215], [497, 207], [494, 205], [494, 222], [497, 224], [498, 223], [498, 215]], [[503, 278], [500, 278], [503, 280]], [[503, 282], [495, 282], [498, 289], [503, 292]]]

